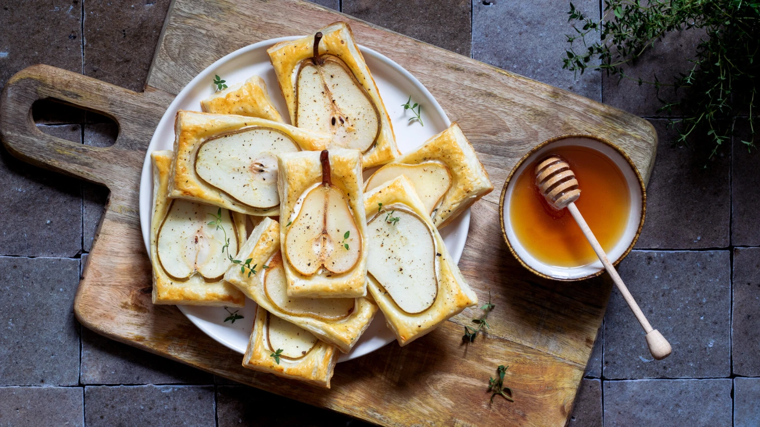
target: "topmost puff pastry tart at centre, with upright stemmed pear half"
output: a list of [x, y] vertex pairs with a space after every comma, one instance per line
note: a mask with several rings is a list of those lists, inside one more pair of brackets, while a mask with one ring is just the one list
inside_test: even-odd
[[278, 156], [280, 242], [287, 294], [367, 294], [362, 158], [355, 149]]

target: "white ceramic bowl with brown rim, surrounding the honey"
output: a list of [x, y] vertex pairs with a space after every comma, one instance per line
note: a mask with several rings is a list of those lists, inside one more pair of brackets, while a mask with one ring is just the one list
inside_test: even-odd
[[[509, 218], [511, 218], [509, 212], [511, 196], [515, 182], [518, 181], [517, 177], [522, 174], [525, 168], [531, 167], [544, 155], [548, 155], [553, 149], [562, 146], [584, 146], [600, 152], [617, 165], [625, 178], [626, 184], [628, 184], [629, 195], [631, 197], [629, 220], [625, 225], [622, 237], [620, 237], [613, 249], [607, 253], [608, 258], [614, 260], [613, 264], [617, 264], [628, 255], [636, 240], [638, 240], [638, 235], [641, 234], [641, 227], [644, 225], [644, 212], [646, 211], [646, 191], [644, 189], [644, 180], [641, 179], [641, 174], [638, 173], [638, 169], [629, 156], [619, 146], [594, 135], [574, 133], [546, 140], [531, 149], [515, 165], [515, 168], [509, 173], [507, 181], [504, 183], [502, 198], [499, 202], [499, 219], [502, 222], [502, 234], [507, 242], [509, 251], [525, 268], [541, 277], [560, 281], [576, 281], [600, 275], [604, 272], [602, 262], [597, 259], [590, 264], [581, 265], [580, 267], [559, 267], [541, 262], [527, 252], [515, 235], [511, 221], [509, 221]], [[581, 197], [583, 197], [582, 190], [581, 188]]]

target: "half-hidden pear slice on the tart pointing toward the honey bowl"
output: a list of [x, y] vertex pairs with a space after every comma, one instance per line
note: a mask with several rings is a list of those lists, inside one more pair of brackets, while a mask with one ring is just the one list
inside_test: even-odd
[[417, 196], [420, 196], [425, 209], [431, 215], [451, 188], [451, 171], [447, 166], [436, 162], [424, 162], [418, 165], [385, 165], [369, 177], [364, 192], [368, 193], [369, 190], [393, 181], [401, 175], [409, 178]]

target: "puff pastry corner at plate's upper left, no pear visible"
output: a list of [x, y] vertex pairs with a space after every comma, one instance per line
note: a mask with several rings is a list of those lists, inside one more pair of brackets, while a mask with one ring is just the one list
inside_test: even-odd
[[272, 104], [267, 83], [258, 76], [251, 76], [201, 101], [201, 110], [219, 115], [244, 115], [283, 121], [280, 112]]

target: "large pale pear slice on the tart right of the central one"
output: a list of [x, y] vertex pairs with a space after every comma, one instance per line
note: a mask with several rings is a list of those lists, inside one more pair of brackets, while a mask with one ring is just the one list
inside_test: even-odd
[[429, 309], [438, 297], [438, 260], [426, 222], [402, 204], [384, 206], [367, 223], [367, 239], [367, 271], [394, 303], [410, 314]]

